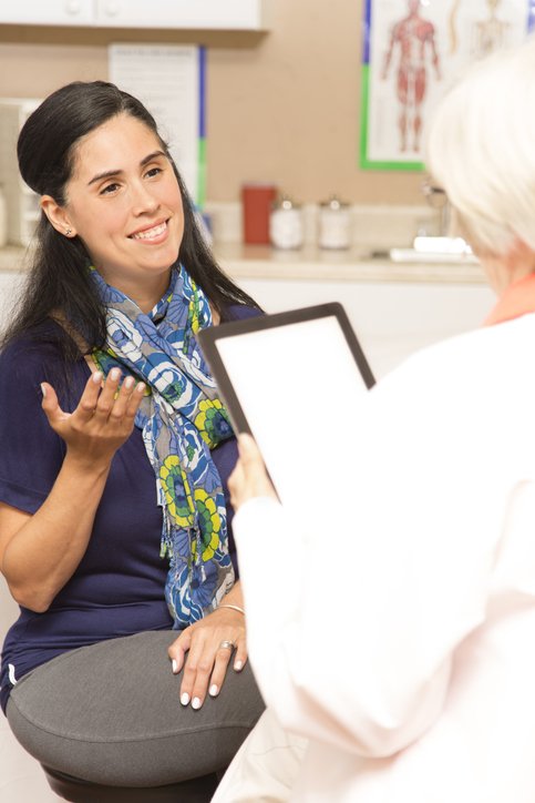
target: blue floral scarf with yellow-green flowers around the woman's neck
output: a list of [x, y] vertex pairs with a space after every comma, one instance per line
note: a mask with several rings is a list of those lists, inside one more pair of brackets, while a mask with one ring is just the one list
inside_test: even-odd
[[147, 314], [92, 268], [106, 306], [105, 350], [93, 357], [107, 376], [146, 383], [135, 424], [143, 430], [163, 509], [165, 598], [179, 630], [217, 608], [232, 588], [222, 480], [210, 448], [233, 435], [195, 333], [212, 325], [208, 298], [181, 267]]

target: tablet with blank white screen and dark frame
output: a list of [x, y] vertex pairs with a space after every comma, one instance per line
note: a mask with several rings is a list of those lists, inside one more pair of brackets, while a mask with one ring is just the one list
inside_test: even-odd
[[350, 471], [351, 420], [374, 384], [342, 305], [226, 323], [197, 337], [235, 431], [254, 436], [281, 501], [333, 489]]

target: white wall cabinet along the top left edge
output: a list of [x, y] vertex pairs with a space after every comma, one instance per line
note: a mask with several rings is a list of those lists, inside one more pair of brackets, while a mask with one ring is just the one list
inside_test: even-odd
[[0, 23], [91, 28], [266, 30], [266, 0], [18, 0]]

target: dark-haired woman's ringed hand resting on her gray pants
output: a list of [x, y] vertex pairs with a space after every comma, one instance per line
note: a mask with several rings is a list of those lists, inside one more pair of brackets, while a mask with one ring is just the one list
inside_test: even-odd
[[210, 697], [219, 693], [230, 659], [237, 672], [247, 661], [244, 614], [232, 608], [217, 608], [183, 630], [169, 647], [168, 655], [175, 674], [184, 667], [182, 704], [192, 701], [192, 707], [199, 709], [208, 691]]

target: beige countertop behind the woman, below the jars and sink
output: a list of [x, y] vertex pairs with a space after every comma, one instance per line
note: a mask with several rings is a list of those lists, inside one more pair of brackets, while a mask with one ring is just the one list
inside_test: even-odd
[[[24, 267], [25, 248], [0, 248], [0, 272]], [[278, 251], [264, 245], [222, 244], [214, 247], [220, 266], [233, 278], [313, 282], [413, 282], [485, 284], [481, 265], [461, 263], [394, 263], [368, 253], [305, 247]]]

